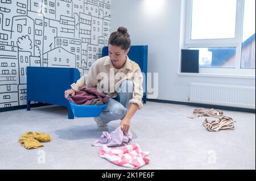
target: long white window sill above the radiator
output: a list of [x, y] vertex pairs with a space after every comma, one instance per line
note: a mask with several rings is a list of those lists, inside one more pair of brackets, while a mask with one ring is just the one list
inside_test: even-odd
[[187, 77], [224, 77], [224, 78], [245, 78], [255, 79], [255, 75], [234, 75], [234, 74], [205, 74], [205, 73], [177, 73], [179, 76]]

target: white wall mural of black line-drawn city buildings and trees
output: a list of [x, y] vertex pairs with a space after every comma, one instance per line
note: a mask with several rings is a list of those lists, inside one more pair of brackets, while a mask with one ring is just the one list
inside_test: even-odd
[[0, 2], [0, 109], [26, 104], [27, 66], [72, 67], [82, 75], [108, 45], [110, 0]]

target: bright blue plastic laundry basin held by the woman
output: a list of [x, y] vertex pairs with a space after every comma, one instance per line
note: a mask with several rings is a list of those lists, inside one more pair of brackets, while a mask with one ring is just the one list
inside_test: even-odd
[[71, 110], [75, 117], [98, 117], [108, 103], [102, 105], [77, 105], [69, 100]]

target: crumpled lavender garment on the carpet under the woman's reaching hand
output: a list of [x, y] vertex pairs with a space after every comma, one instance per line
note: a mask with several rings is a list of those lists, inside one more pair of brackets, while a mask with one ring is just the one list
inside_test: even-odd
[[131, 132], [124, 134], [121, 127], [115, 129], [115, 131], [108, 133], [102, 132], [99, 140], [93, 142], [92, 146], [126, 146], [131, 141]]

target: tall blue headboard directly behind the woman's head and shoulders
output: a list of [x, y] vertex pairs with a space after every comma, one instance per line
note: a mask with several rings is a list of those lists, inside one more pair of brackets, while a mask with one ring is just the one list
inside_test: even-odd
[[[137, 46], [131, 46], [130, 51], [127, 54], [130, 60], [135, 61], [139, 67], [141, 68], [141, 71], [144, 76], [143, 78], [143, 103], [146, 103], [146, 92], [147, 92], [147, 52], [148, 52], [148, 46], [147, 45], [137, 45]], [[109, 55], [109, 48], [104, 47], [102, 49], [102, 57]]]

